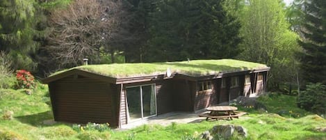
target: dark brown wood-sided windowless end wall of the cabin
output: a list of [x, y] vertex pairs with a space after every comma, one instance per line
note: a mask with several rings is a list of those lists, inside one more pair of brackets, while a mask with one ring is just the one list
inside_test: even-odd
[[110, 84], [81, 76], [50, 83], [54, 118], [69, 123], [117, 125]]

